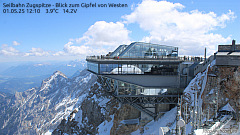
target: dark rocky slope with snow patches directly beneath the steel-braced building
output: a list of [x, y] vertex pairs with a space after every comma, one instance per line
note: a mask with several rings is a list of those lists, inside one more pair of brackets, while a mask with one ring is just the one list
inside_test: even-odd
[[139, 128], [138, 123], [123, 123], [125, 119], [138, 118], [139, 115], [131, 115], [130, 112], [138, 111], [119, 104], [97, 82], [80, 106], [62, 120], [53, 134], [130, 134]]

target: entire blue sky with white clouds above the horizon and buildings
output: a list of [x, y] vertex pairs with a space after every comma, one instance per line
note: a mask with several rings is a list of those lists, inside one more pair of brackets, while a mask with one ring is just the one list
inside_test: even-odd
[[[127, 7], [61, 7], [46, 13], [56, 7], [4, 7], [8, 3]], [[85, 59], [136, 41], [177, 46], [180, 55], [203, 56], [206, 47], [212, 55], [219, 44], [240, 43], [239, 7], [238, 0], [0, 0], [0, 62]], [[25, 13], [4, 13], [7, 9]]]

